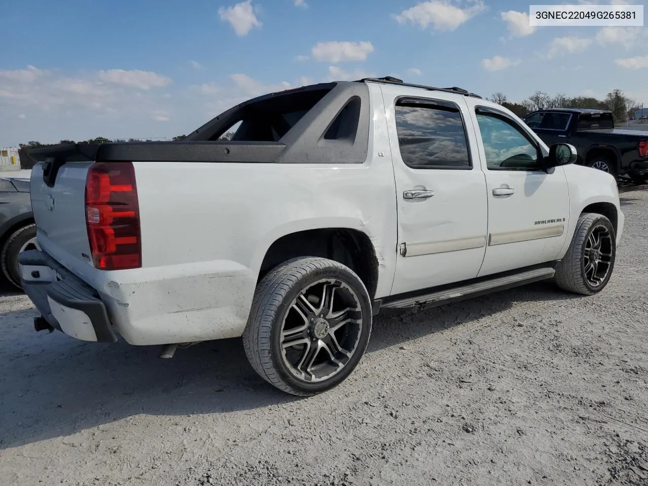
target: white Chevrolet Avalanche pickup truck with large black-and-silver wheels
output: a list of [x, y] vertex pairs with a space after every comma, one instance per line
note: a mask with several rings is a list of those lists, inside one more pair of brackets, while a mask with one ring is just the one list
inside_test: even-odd
[[380, 308], [542, 279], [601, 291], [623, 230], [616, 181], [573, 146], [389, 77], [254, 98], [185, 141], [31, 155], [40, 249], [19, 263], [36, 330], [166, 356], [242, 336], [295, 395], [349, 376]]

